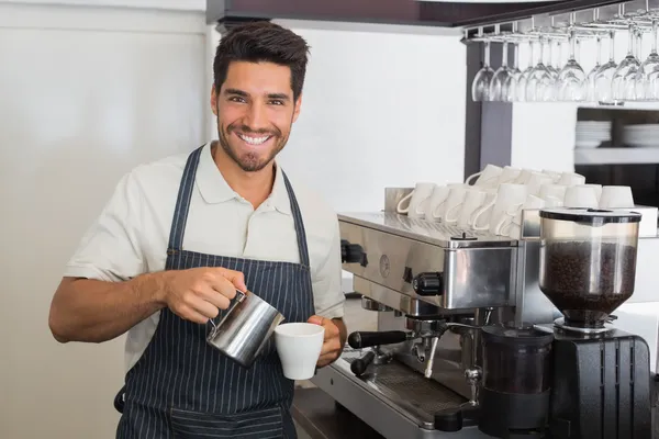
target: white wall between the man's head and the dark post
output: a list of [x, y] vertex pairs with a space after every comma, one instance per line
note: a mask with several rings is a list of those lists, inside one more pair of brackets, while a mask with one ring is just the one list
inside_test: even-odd
[[[386, 187], [462, 180], [467, 78], [459, 34], [281, 24], [311, 45], [302, 113], [280, 156], [290, 175], [339, 212], [381, 210]], [[209, 38], [214, 47], [220, 35]]]

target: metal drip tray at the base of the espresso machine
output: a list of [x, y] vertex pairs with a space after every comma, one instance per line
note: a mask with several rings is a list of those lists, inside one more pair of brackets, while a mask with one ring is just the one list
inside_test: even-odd
[[467, 402], [463, 396], [395, 360], [387, 364], [370, 364], [361, 376], [355, 376], [350, 363], [364, 353], [362, 350], [346, 348], [335, 367], [355, 382], [366, 385], [377, 397], [414, 417], [422, 428], [434, 429], [435, 413], [458, 408]]

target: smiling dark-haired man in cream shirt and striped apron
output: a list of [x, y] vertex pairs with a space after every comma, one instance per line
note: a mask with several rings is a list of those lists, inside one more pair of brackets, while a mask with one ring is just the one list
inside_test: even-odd
[[308, 52], [267, 22], [224, 36], [211, 93], [219, 142], [124, 176], [67, 266], [54, 337], [129, 333], [118, 438], [297, 437], [293, 382], [275, 348], [245, 369], [205, 342], [206, 323], [236, 289], [287, 322], [322, 325], [319, 367], [340, 354], [336, 215], [303, 188], [293, 192], [275, 161], [300, 114]]

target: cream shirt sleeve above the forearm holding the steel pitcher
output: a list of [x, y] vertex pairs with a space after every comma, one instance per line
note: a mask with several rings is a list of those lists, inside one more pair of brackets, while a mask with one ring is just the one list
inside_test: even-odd
[[141, 198], [134, 171], [125, 175], [82, 236], [65, 277], [119, 282], [146, 272], [139, 240]]

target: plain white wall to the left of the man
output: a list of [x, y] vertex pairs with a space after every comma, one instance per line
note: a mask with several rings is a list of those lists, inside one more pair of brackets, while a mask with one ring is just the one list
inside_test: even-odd
[[114, 438], [123, 337], [58, 345], [64, 264], [120, 176], [204, 142], [203, 14], [0, 3], [0, 438]]

